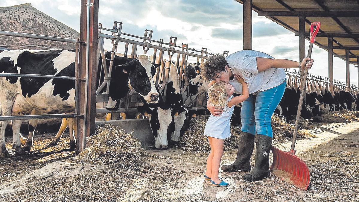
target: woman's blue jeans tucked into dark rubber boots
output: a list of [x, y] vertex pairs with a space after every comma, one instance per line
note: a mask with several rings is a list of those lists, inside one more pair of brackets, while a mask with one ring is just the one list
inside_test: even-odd
[[286, 80], [274, 88], [260, 91], [257, 95], [250, 94], [242, 102], [242, 131], [253, 135], [261, 134], [273, 137], [271, 117], [283, 97]]

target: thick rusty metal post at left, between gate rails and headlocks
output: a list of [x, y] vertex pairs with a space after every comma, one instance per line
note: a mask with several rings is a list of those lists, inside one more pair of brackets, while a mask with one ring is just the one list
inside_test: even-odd
[[[76, 155], [84, 149], [85, 138], [89, 137], [95, 130], [98, 0], [91, 0], [90, 5], [88, 5], [90, 6], [88, 71], [86, 71], [87, 3], [87, 0], [81, 0], [78, 70], [78, 110], [81, 115], [76, 120]], [[93, 77], [94, 79], [92, 79]], [[87, 89], [85, 78], [87, 78], [88, 82]], [[87, 91], [87, 97], [85, 96], [85, 91]], [[87, 102], [86, 106], [85, 102]]]

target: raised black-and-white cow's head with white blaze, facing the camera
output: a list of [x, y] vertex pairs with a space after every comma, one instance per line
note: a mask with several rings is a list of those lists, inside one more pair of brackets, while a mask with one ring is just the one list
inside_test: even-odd
[[[115, 59], [116, 60], [116, 59]], [[137, 91], [146, 102], [157, 102], [159, 93], [153, 82], [157, 64], [152, 64], [147, 55], [139, 55], [129, 63], [115, 66], [116, 71], [129, 74], [129, 87]]]

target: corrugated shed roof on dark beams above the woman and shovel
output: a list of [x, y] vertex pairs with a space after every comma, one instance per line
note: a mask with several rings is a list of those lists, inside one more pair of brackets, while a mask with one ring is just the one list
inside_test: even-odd
[[[236, 0], [243, 4], [243, 0]], [[298, 35], [298, 17], [306, 17], [306, 38], [311, 22], [321, 22], [315, 43], [328, 49], [327, 37], [333, 37], [333, 53], [345, 60], [349, 49], [350, 63], [359, 57], [359, 1], [357, 0], [252, 0], [258, 16], [265, 16]]]

